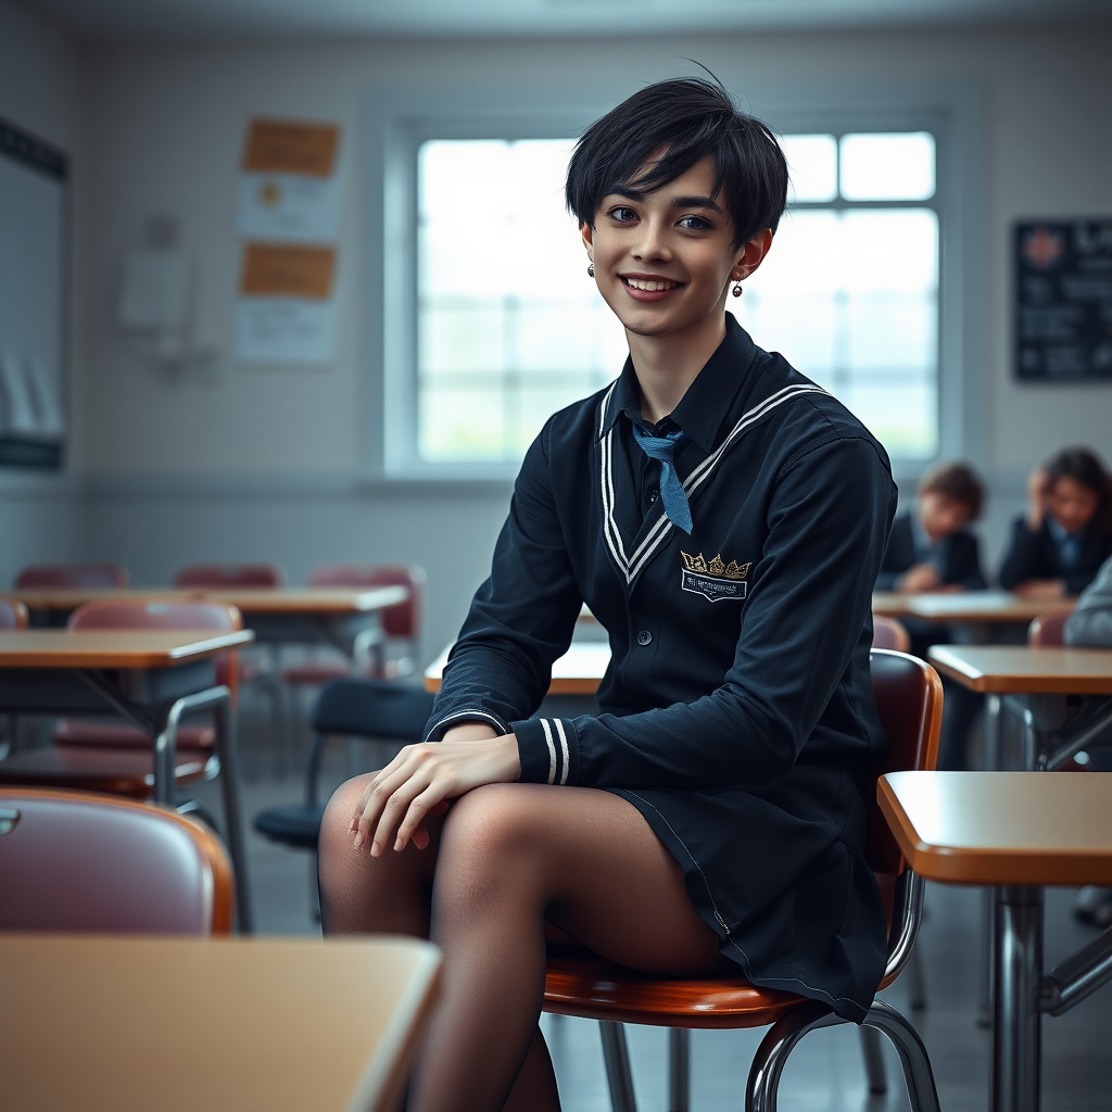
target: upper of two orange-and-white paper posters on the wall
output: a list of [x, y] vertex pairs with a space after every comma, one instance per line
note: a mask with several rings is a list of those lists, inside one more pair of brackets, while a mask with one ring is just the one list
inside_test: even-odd
[[339, 128], [252, 120], [239, 180], [238, 227], [248, 239], [322, 242], [339, 219]]

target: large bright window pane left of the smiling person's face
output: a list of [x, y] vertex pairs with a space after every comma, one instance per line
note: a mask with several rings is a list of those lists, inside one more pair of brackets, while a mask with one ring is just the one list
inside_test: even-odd
[[557, 409], [615, 378], [622, 326], [564, 208], [574, 139], [418, 152], [418, 451], [519, 460]]

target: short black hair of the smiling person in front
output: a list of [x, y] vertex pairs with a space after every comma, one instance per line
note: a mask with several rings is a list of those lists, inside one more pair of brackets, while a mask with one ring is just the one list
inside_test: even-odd
[[[646, 168], [657, 151], [659, 161]], [[765, 228], [775, 231], [787, 202], [784, 152], [764, 123], [702, 78], [658, 81], [592, 123], [567, 169], [567, 207], [580, 225], [594, 227], [607, 193], [653, 192], [707, 155], [714, 157], [714, 196], [726, 196], [734, 246]]]

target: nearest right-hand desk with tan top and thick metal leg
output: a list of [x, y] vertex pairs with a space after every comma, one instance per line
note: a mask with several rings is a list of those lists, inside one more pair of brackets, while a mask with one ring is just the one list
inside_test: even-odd
[[1112, 931], [1043, 973], [1043, 888], [1112, 885], [1112, 774], [901, 772], [877, 801], [920, 875], [994, 890], [991, 1112], [1037, 1112], [1042, 1015], [1112, 979]]

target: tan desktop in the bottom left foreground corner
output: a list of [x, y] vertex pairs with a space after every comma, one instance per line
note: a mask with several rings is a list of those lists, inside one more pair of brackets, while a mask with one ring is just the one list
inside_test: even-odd
[[393, 1112], [439, 966], [413, 939], [0, 935], [0, 1104]]

